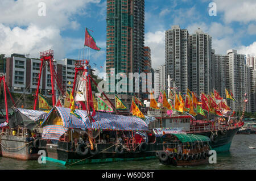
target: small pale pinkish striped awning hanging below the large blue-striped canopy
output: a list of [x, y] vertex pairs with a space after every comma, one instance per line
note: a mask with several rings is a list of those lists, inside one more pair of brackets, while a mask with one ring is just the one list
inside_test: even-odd
[[47, 125], [43, 128], [42, 138], [46, 140], [59, 140], [67, 131], [68, 128], [60, 125]]

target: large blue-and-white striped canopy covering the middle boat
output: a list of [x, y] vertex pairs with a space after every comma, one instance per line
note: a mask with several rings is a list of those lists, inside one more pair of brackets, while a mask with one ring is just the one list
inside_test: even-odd
[[76, 110], [78, 116], [72, 115], [70, 108], [53, 107], [44, 119], [42, 126], [62, 125], [65, 128], [74, 129], [103, 129], [113, 131], [147, 131], [147, 124], [138, 117], [114, 115], [110, 113], [96, 112], [94, 122], [90, 123], [87, 112]]

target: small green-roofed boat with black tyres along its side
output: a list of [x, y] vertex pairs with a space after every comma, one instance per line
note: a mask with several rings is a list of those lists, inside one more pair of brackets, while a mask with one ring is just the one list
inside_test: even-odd
[[163, 165], [196, 166], [208, 163], [209, 137], [195, 134], [163, 134], [164, 149], [156, 156]]

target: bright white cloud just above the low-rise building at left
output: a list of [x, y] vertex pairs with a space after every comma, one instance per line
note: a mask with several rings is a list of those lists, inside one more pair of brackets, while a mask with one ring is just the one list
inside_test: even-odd
[[30, 53], [31, 57], [38, 57], [39, 52], [54, 49], [56, 58], [64, 57], [63, 39], [57, 28], [41, 29], [31, 24], [26, 29], [9, 27], [0, 24], [0, 49], [10, 56], [11, 53]]

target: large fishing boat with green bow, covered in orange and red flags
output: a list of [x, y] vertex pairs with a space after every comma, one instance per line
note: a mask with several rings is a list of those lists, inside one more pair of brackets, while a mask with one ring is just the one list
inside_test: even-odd
[[[201, 102], [204, 103], [202, 104], [197, 100], [195, 93], [191, 92], [191, 97], [188, 92], [185, 102], [180, 93], [175, 93], [175, 96], [172, 95], [172, 99], [174, 100], [174, 106], [172, 106], [172, 108], [175, 108], [176, 111], [172, 112], [171, 115], [167, 113], [166, 107], [163, 108], [163, 106], [160, 109], [158, 108], [158, 110], [149, 110], [147, 115], [155, 117], [155, 121], [154, 123], [151, 123], [150, 128], [184, 128], [184, 130], [189, 134], [197, 134], [209, 137], [211, 148], [216, 150], [217, 152], [220, 153], [224, 151], [229, 151], [234, 135], [244, 124], [242, 119], [245, 112], [246, 99], [243, 103], [242, 116], [238, 118], [234, 117], [234, 114], [225, 115], [222, 114], [220, 110], [217, 110], [217, 108], [219, 109], [220, 106], [225, 107], [225, 109], [223, 110], [230, 110], [230, 108], [222, 102], [222, 98], [220, 98], [216, 91], [214, 91], [214, 94], [216, 93], [218, 95], [218, 99], [221, 100], [221, 104], [219, 104], [220, 106], [218, 106], [216, 100], [214, 100], [210, 95], [208, 97], [204, 94], [203, 96], [201, 96]], [[151, 98], [151, 100], [152, 99], [154, 100], [154, 98]], [[160, 94], [159, 100], [160, 102], [162, 101], [162, 104], [166, 104], [164, 103], [164, 100], [166, 100], [167, 102], [167, 96], [164, 91]], [[151, 103], [152, 102], [153, 101], [151, 101]], [[154, 100], [154, 102], [156, 102], [156, 100]], [[171, 102], [169, 102], [168, 104], [171, 104]], [[204, 115], [203, 117], [201, 115], [197, 115], [196, 117], [198, 117], [199, 119], [196, 119], [196, 117], [192, 115], [192, 113], [195, 113], [193, 111], [193, 107], [195, 104], [197, 107], [197, 112], [204, 115], [204, 110], [203, 108], [201, 108], [202, 104], [204, 106], [204, 109], [208, 110], [208, 116]], [[212, 112], [215, 111], [218, 113], [218, 115], [214, 115], [211, 119], [209, 119], [210, 108], [212, 109]], [[188, 109], [189, 111], [187, 111]], [[231, 110], [229, 112], [231, 112]], [[203, 117], [203, 119], [200, 119], [200, 117]]]

